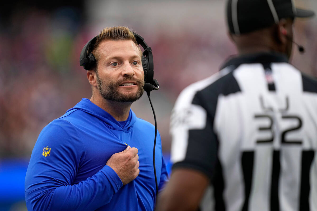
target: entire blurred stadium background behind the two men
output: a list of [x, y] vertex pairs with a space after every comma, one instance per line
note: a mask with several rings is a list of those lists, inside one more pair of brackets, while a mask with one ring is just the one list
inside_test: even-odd
[[[317, 12], [316, 0], [296, 0]], [[0, 8], [0, 210], [26, 210], [24, 177], [37, 136], [81, 98], [91, 97], [79, 54], [102, 28], [126, 26], [152, 47], [151, 99], [169, 161], [169, 118], [187, 85], [208, 77], [236, 49], [227, 36], [224, 0], [12, 1]], [[295, 22], [291, 63], [317, 76], [317, 17]], [[133, 103], [154, 124], [148, 98]]]

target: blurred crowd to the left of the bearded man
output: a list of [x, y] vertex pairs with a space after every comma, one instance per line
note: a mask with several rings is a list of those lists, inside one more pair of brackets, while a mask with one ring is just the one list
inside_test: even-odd
[[1, 157], [29, 157], [41, 129], [84, 92], [78, 16], [72, 8], [30, 8], [12, 13], [1, 30]]

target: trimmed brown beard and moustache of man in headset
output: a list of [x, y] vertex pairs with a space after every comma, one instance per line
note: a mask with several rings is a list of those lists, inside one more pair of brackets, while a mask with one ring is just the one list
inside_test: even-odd
[[[106, 82], [99, 78], [96, 72], [96, 79], [98, 84], [98, 90], [101, 96], [106, 100], [111, 100], [115, 102], [134, 102], [140, 99], [143, 95], [144, 79], [137, 79], [133, 77], [125, 78], [116, 82]], [[133, 93], [120, 93], [118, 87], [125, 81], [135, 81], [139, 89]]]

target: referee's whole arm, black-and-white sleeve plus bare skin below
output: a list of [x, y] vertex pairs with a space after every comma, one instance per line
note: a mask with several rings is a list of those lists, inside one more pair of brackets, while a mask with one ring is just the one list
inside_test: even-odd
[[[213, 131], [215, 99], [202, 99], [192, 90], [179, 95], [171, 115], [171, 160], [174, 162], [170, 181], [158, 196], [156, 211], [197, 211], [217, 163], [218, 141]], [[208, 95], [210, 98], [210, 95]], [[208, 109], [204, 107], [208, 102]]]

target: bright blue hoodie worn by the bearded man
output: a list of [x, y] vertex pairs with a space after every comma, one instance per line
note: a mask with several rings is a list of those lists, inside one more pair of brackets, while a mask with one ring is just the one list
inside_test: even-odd
[[[43, 128], [25, 177], [28, 210], [153, 210], [155, 128], [130, 109], [124, 124], [83, 98]], [[126, 144], [138, 148], [140, 173], [132, 182], [106, 165]], [[167, 180], [158, 134], [155, 153], [159, 190]]]

